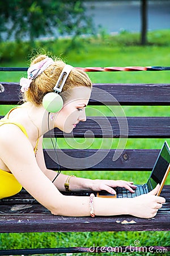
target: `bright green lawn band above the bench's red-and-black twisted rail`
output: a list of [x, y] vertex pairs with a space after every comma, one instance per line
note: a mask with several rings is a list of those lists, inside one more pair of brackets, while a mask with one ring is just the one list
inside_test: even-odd
[[[95, 65], [101, 65], [101, 67], [104, 65], [169, 65], [169, 36], [169, 30], [148, 32], [146, 47], [139, 45], [139, 33], [128, 31], [121, 31], [120, 34], [113, 36], [101, 32], [99, 36], [80, 37], [76, 39], [74, 47], [70, 38], [35, 40], [34, 46], [29, 42], [0, 42], [0, 61], [1, 66], [3, 64], [9, 67], [12, 67], [14, 61], [16, 67], [18, 61], [22, 63], [28, 61], [32, 51], [39, 52], [44, 49], [45, 52], [52, 52], [53, 55], [66, 57], [67, 60], [73, 61], [73, 65], [80, 63], [79, 65], [83, 64], [84, 67], [92, 66], [94, 60], [97, 61]], [[21, 65], [25, 66], [28, 63]]]

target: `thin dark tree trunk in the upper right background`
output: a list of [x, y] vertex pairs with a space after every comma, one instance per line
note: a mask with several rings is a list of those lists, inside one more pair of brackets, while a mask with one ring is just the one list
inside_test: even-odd
[[147, 44], [147, 0], [141, 0], [141, 44]]

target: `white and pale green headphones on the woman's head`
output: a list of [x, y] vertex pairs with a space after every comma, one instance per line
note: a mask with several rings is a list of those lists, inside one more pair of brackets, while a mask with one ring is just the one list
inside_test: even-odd
[[43, 97], [42, 105], [48, 112], [56, 113], [62, 109], [63, 100], [58, 93], [62, 92], [62, 88], [72, 69], [73, 67], [71, 65], [66, 64], [65, 67], [62, 69], [61, 74], [58, 77], [56, 85], [53, 88], [54, 92], [47, 93]]

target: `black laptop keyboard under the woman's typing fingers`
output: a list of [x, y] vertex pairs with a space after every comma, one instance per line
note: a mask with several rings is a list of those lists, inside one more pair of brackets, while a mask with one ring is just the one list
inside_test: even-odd
[[127, 198], [127, 197], [131, 198], [131, 197], [140, 196], [146, 193], [145, 189], [143, 188], [143, 185], [137, 185], [137, 188], [134, 189], [134, 191], [135, 191], [134, 193], [131, 193], [126, 188], [120, 188], [120, 187], [116, 188], [116, 193], [118, 198]]

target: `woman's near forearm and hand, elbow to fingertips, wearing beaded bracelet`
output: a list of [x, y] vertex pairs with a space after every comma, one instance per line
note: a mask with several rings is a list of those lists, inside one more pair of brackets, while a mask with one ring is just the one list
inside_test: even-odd
[[[138, 196], [131, 199], [111, 199], [111, 198], [94, 198], [94, 210], [96, 216], [113, 216], [121, 214], [130, 214], [135, 217], [152, 218], [162, 208], [165, 199], [155, 196], [158, 192], [157, 186], [153, 191], [146, 195]], [[64, 216], [89, 216], [90, 204], [89, 197], [65, 196], [69, 200], [63, 200], [62, 212]], [[63, 212], [63, 210], [65, 212]], [[56, 214], [55, 212], [52, 212]], [[58, 213], [57, 213], [58, 214]]]

